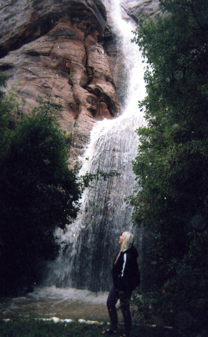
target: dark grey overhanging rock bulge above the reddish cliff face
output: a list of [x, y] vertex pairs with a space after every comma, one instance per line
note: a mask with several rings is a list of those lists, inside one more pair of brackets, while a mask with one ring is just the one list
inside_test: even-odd
[[1, 3], [0, 57], [45, 35], [64, 16], [82, 22], [88, 31], [105, 29], [106, 9], [101, 0], [8, 0]]

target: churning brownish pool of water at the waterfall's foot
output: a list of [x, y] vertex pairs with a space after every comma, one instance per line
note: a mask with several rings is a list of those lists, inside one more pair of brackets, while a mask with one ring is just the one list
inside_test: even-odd
[[[56, 287], [35, 287], [26, 296], [5, 298], [0, 301], [2, 318], [39, 317], [61, 319], [89, 319], [109, 321], [106, 306], [108, 293]], [[118, 312], [119, 321], [122, 315]]]

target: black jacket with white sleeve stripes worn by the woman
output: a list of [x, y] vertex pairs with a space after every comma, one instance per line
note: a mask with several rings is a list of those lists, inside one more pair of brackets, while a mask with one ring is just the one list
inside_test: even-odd
[[139, 267], [137, 264], [138, 252], [134, 246], [121, 252], [116, 264], [113, 262], [113, 283], [116, 290], [132, 291], [140, 283]]

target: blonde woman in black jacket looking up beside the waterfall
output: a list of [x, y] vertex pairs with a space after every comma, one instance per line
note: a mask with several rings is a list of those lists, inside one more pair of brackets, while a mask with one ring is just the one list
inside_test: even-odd
[[133, 235], [124, 232], [120, 236], [119, 244], [121, 249], [116, 254], [113, 263], [113, 285], [108, 295], [107, 307], [111, 320], [111, 329], [103, 331], [103, 334], [115, 335], [118, 327], [118, 315], [116, 303], [120, 299], [121, 311], [123, 314], [126, 337], [129, 337], [131, 330], [131, 313], [129, 300], [132, 290], [140, 283], [139, 268], [137, 264], [138, 252], [133, 246]]

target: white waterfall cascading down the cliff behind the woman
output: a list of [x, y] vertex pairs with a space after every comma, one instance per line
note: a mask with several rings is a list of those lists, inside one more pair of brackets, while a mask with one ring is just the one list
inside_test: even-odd
[[121, 175], [93, 181], [92, 187], [84, 191], [76, 221], [65, 234], [57, 233], [61, 241], [68, 242], [68, 249], [49, 264], [45, 281], [47, 285], [93, 292], [109, 290], [111, 286], [112, 260], [119, 251], [118, 241], [123, 231], [135, 234], [135, 246], [140, 258], [142, 255], [142, 231], [132, 228], [132, 207], [124, 199], [135, 186], [131, 162], [139, 144], [135, 130], [144, 124], [138, 108], [138, 100], [145, 96], [144, 69], [138, 46], [130, 42], [135, 27], [122, 19], [117, 0], [111, 5], [113, 30], [125, 59], [125, 72], [129, 74], [126, 103], [118, 118], [96, 123], [80, 160], [81, 174], [116, 170]]

